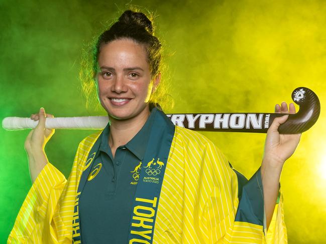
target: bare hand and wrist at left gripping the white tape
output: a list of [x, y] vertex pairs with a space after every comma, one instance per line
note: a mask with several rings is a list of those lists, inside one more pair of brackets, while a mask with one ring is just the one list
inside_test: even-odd
[[46, 114], [44, 108], [38, 114], [32, 114], [31, 119], [39, 121], [38, 125], [31, 130], [25, 140], [25, 150], [28, 156], [32, 182], [35, 181], [41, 170], [49, 162], [44, 147], [54, 134], [54, 129], [45, 128], [46, 117], [53, 118], [52, 114]]

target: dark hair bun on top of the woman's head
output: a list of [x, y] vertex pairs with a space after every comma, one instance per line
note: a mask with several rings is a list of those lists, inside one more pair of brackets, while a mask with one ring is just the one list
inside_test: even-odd
[[119, 18], [120, 22], [128, 25], [139, 25], [144, 27], [151, 35], [153, 35], [152, 22], [147, 16], [141, 12], [133, 12], [131, 10], [125, 11]]

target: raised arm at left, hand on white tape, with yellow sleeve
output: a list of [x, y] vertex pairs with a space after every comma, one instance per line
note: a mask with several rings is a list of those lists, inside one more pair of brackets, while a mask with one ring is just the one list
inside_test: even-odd
[[45, 144], [54, 134], [53, 129], [45, 129], [46, 116], [53, 117], [46, 115], [43, 108], [39, 114], [31, 116], [32, 119], [39, 120], [25, 141], [33, 184], [18, 213], [8, 243], [40, 243], [41, 236], [50, 228], [49, 222], [66, 185], [66, 178], [49, 163], [44, 152]]

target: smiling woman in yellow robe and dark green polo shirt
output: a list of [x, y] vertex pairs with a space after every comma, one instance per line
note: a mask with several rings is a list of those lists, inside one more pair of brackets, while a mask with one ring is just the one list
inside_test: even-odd
[[160, 111], [161, 45], [152, 34], [144, 14], [126, 11], [100, 35], [93, 73], [110, 123], [80, 142], [68, 181], [44, 152], [52, 115], [41, 108], [31, 116], [39, 120], [25, 142], [33, 186], [9, 243], [286, 241], [282, 202], [275, 205], [300, 135], [279, 135], [287, 116], [275, 119], [247, 182], [207, 138]]

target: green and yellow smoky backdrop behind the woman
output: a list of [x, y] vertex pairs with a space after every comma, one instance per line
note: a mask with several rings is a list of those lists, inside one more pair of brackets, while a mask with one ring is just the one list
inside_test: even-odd
[[[326, 243], [326, 1], [0, 1], [0, 119], [44, 107], [56, 117], [105, 115], [88, 108], [78, 80], [81, 50], [132, 4], [156, 16], [175, 106], [167, 113], [273, 112], [296, 87], [321, 103], [281, 176], [289, 243]], [[298, 109], [298, 106], [296, 106]], [[0, 242], [30, 187], [24, 141], [0, 129]], [[91, 130], [56, 130], [49, 161], [68, 177]], [[264, 134], [203, 133], [247, 178], [262, 161]]]

